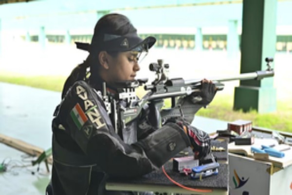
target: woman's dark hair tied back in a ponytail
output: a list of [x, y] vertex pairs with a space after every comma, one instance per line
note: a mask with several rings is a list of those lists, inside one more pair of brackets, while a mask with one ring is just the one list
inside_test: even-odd
[[[66, 79], [62, 98], [66, 95], [68, 89], [77, 80], [91, 80], [98, 76], [100, 63], [98, 60], [98, 54], [103, 51], [102, 45], [104, 44], [104, 35], [126, 35], [131, 32], [136, 32], [136, 28], [131, 24], [130, 20], [121, 14], [107, 14], [100, 18], [95, 27], [94, 33], [90, 44], [90, 54], [87, 59], [77, 65], [71, 75]], [[108, 52], [111, 56], [116, 56], [117, 52]], [[87, 69], [90, 67], [90, 72]], [[90, 74], [89, 74], [90, 73]]]

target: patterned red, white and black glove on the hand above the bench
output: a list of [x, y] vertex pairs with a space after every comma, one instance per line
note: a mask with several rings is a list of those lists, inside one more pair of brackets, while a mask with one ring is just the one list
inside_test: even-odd
[[199, 159], [207, 156], [211, 149], [211, 138], [209, 135], [186, 122], [182, 117], [169, 118], [166, 123], [175, 123], [182, 128], [184, 133], [188, 136], [191, 148]]

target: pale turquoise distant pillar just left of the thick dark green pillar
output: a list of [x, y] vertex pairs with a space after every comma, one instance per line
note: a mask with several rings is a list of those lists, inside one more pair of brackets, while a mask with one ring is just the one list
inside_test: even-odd
[[237, 20], [228, 21], [227, 56], [236, 57], [239, 51], [239, 37], [237, 34]]

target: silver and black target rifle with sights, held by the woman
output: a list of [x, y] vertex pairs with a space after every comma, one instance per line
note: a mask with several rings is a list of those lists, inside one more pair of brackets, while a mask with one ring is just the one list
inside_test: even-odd
[[[224, 88], [222, 82], [224, 81], [260, 80], [262, 78], [273, 77], [274, 70], [271, 68], [270, 63], [274, 59], [266, 58], [265, 61], [267, 62], [266, 70], [210, 80], [215, 83], [218, 90], [222, 90]], [[115, 97], [107, 95], [104, 83], [102, 97], [116, 133], [121, 134], [126, 124], [139, 116], [147, 102], [149, 103], [149, 109], [160, 110], [163, 106], [162, 100], [171, 98], [171, 109], [164, 109], [161, 111], [160, 116], [155, 116], [157, 117], [155, 122], [157, 127], [161, 127], [162, 118], [168, 116], [184, 116], [187, 121], [191, 122], [197, 112], [189, 105], [185, 108], [176, 106], [176, 101], [178, 97], [188, 96], [200, 91], [201, 79], [184, 80], [183, 78], [168, 78], [169, 64], [164, 64], [161, 59], [157, 63], [150, 63], [149, 70], [156, 74], [156, 78], [151, 84], [146, 84], [148, 79], [117, 82], [118, 93]], [[136, 89], [142, 85], [144, 85], [144, 89], [148, 93], [143, 98], [138, 99]]]

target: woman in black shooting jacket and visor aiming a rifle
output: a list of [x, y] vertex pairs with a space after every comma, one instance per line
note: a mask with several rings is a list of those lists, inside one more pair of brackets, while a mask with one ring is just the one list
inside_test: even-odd
[[[127, 17], [109, 14], [96, 23], [91, 44], [77, 45], [90, 54], [66, 80], [62, 101], [55, 110], [52, 122], [54, 195], [122, 194], [105, 190], [108, 176], [142, 176], [160, 168], [188, 146], [199, 151], [200, 157], [208, 154], [210, 140], [206, 133], [179, 117], [170, 118], [157, 129], [148, 119], [146, 106], [139, 119], [127, 123], [125, 129], [130, 136], [119, 137], [103, 99], [96, 93], [105, 82], [107, 94], [114, 95], [117, 81], [133, 80], [140, 69], [139, 55], [147, 52], [155, 41], [153, 37], [139, 38]], [[198, 110], [215, 95], [214, 84], [202, 84]], [[185, 98], [185, 102], [187, 99], [192, 98]]]

